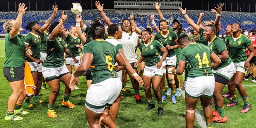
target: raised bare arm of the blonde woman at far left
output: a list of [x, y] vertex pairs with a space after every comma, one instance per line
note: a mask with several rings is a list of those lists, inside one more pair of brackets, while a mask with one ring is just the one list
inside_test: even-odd
[[26, 4], [24, 3], [19, 3], [19, 13], [18, 13], [18, 16], [16, 18], [16, 20], [14, 21], [13, 23], [13, 28], [12, 30], [10, 31], [10, 38], [14, 38], [16, 37], [16, 35], [18, 34], [19, 32], [19, 29], [21, 27], [21, 24], [22, 24], [22, 16], [25, 14], [25, 11], [28, 7], [26, 7]]

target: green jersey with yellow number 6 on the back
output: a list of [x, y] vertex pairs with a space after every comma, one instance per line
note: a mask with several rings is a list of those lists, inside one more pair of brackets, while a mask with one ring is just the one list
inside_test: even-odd
[[113, 44], [103, 39], [96, 39], [84, 45], [83, 53], [93, 54], [93, 62], [90, 66], [91, 75], [93, 76], [92, 84], [118, 77], [114, 63], [115, 56], [119, 51]]

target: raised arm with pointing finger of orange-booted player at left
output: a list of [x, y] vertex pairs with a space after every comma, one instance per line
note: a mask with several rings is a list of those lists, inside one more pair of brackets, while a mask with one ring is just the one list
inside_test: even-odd
[[68, 15], [64, 15], [64, 11], [62, 11], [61, 21], [60, 23], [53, 29], [52, 33], [49, 33], [49, 40], [52, 41], [56, 38], [59, 33], [61, 26], [65, 23], [66, 19], [68, 19]]

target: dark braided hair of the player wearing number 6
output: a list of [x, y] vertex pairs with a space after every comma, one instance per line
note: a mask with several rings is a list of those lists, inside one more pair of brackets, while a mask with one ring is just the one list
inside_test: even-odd
[[93, 39], [97, 38], [104, 38], [105, 35], [105, 27], [101, 24], [98, 20], [91, 24], [91, 37]]

